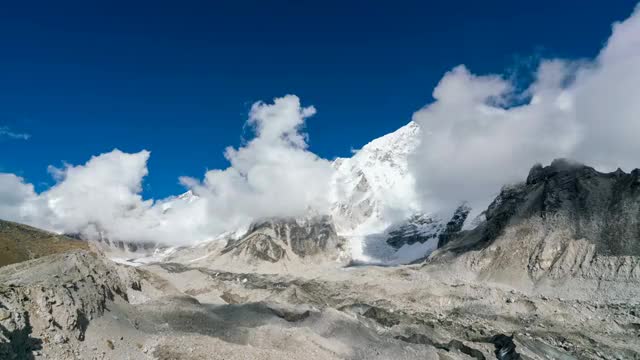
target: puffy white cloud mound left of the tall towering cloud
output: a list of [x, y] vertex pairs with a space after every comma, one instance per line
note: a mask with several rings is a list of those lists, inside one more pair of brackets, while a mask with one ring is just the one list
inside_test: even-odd
[[40, 196], [54, 215], [53, 227], [65, 233], [106, 231], [114, 238], [127, 238], [131, 226], [146, 217], [152, 205], [139, 194], [149, 155], [113, 150], [84, 165], [50, 167], [58, 183]]

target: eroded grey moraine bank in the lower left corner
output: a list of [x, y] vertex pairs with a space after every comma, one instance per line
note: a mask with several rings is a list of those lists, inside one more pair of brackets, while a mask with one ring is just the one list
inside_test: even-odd
[[85, 251], [2, 268], [0, 359], [29, 359], [34, 350], [82, 341], [115, 297], [127, 298], [115, 269]]

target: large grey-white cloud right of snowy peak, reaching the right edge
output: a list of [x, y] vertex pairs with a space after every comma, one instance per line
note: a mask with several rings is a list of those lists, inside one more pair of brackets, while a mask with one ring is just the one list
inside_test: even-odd
[[[445, 74], [435, 102], [416, 112], [422, 127], [412, 169], [427, 210], [461, 201], [482, 207], [529, 168], [569, 157], [602, 170], [640, 160], [640, 13], [613, 33], [593, 61], [544, 60], [533, 84], [474, 75], [465, 66]], [[513, 99], [528, 98], [514, 105]]]

